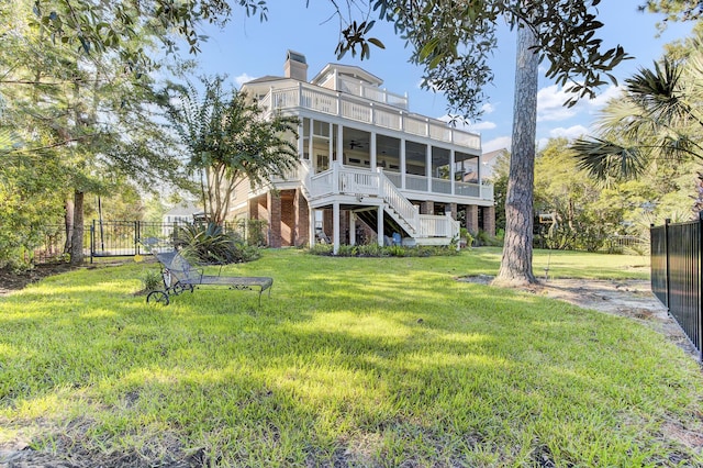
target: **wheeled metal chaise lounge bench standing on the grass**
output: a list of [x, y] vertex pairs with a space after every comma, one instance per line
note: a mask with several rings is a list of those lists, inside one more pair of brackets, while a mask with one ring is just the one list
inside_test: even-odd
[[147, 294], [146, 302], [156, 302], [168, 305], [169, 297], [180, 294], [185, 291], [193, 292], [199, 286], [224, 286], [234, 290], [258, 290], [259, 305], [261, 305], [261, 293], [268, 289], [271, 297], [271, 286], [274, 278], [269, 277], [243, 277], [243, 276], [220, 276], [204, 275], [204, 270], [193, 267], [178, 250], [161, 252], [154, 241], [143, 242], [149, 252], [156, 257], [161, 266], [161, 278], [164, 289], [155, 290]]

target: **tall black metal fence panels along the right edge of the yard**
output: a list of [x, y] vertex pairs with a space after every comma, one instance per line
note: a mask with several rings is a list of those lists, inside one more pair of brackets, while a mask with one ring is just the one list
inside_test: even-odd
[[696, 221], [650, 229], [651, 291], [703, 360], [703, 213]]

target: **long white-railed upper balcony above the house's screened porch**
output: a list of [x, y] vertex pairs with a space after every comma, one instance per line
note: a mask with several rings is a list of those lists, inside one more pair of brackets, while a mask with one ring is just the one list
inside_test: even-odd
[[[349, 78], [345, 77], [343, 81], [346, 82], [345, 80]], [[368, 85], [362, 87], [361, 82], [356, 85], [359, 93], [334, 91], [302, 81], [293, 87], [271, 87], [259, 104], [267, 112], [310, 110], [476, 152], [481, 151], [480, 135], [454, 129], [440, 120], [425, 118], [389, 104], [389, 100], [397, 99], [398, 94], [388, 93]], [[361, 94], [370, 93], [372, 90], [379, 93], [376, 96], [377, 99], [368, 97], [364, 99]]]

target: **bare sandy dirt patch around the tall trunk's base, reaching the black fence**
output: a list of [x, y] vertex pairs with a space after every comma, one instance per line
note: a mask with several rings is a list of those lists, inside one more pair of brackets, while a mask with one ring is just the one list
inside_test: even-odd
[[[458, 278], [460, 281], [490, 285], [492, 276]], [[698, 359], [698, 352], [667, 308], [651, 292], [647, 280], [549, 279], [523, 287], [525, 292], [567, 301], [583, 309], [593, 309], [627, 316], [665, 335], [669, 341]]]

